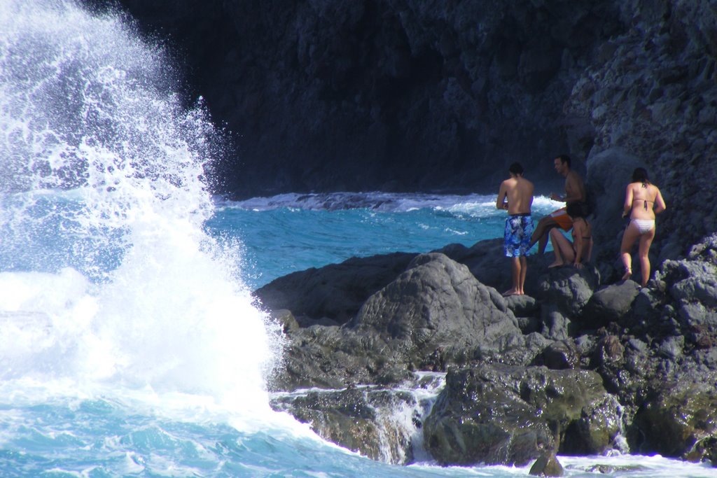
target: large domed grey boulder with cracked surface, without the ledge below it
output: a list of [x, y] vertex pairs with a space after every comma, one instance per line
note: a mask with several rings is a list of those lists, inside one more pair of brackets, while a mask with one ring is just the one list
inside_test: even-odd
[[495, 289], [438, 253], [416, 257], [406, 272], [366, 300], [351, 327], [375, 330], [418, 356], [437, 348], [498, 348], [507, 336], [522, 335]]

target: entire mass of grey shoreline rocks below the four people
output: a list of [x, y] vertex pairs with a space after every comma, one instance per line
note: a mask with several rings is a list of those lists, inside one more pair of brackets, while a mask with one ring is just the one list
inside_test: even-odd
[[[475, 266], [494, 245], [442, 250]], [[289, 341], [284, 367], [270, 383], [286, 396], [272, 406], [310, 421], [326, 439], [405, 464], [415, 437], [394, 430], [388, 435], [397, 441], [377, 443], [387, 435], [376, 432], [375, 416], [353, 415], [366, 398], [356, 398], [359, 408], [349, 413], [354, 392], [324, 401], [293, 399], [290, 392], [369, 386], [390, 396], [397, 386], [415, 383], [416, 372], [438, 371], [447, 373], [446, 386], [415, 422], [424, 449], [441, 464], [523, 465], [546, 453], [601, 454], [613, 447], [714, 459], [717, 234], [696, 244], [687, 258], [660, 264], [649, 288], [632, 281], [605, 284], [597, 267], [540, 274], [540, 259], [532, 259], [534, 297], [502, 297], [467, 264], [442, 252], [409, 256], [351, 259], [341, 267], [292, 274], [296, 285], [307, 283], [303, 274], [328, 282], [344, 274], [351, 280], [333, 283], [361, 291], [348, 303], [363, 304], [349, 320], [331, 316], [346, 310], [342, 293], [326, 297], [315, 312], [321, 317], [297, 321], [289, 310], [276, 312]], [[384, 264], [373, 269], [385, 282], [374, 292], [361, 284], [379, 279], [350, 271], [366, 271], [367, 264]], [[397, 264], [406, 264], [405, 270], [389, 280], [385, 271], [400, 269]], [[257, 296], [268, 309], [275, 297], [290, 305], [292, 294], [300, 297], [304, 290], [288, 290], [287, 283], [277, 279]], [[281, 296], [272, 292], [278, 285]], [[517, 315], [529, 316], [538, 331], [521, 328]], [[338, 433], [336, 427], [352, 417], [360, 419], [361, 433]], [[389, 457], [379, 456], [376, 450], [386, 446], [393, 450]]]

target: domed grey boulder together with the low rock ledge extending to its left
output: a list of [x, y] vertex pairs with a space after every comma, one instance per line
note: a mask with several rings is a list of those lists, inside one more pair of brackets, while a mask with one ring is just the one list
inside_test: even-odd
[[495, 289], [439, 253], [417, 256], [341, 327], [284, 323], [289, 340], [273, 390], [399, 383], [410, 371], [445, 371], [475, 358], [527, 364], [548, 345], [521, 333]]

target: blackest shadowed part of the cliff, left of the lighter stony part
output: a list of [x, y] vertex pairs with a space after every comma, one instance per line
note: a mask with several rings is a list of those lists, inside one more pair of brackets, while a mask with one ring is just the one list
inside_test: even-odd
[[626, 29], [588, 0], [120, 4], [231, 131], [220, 170], [238, 196], [493, 190], [513, 161], [554, 181], [564, 102]]

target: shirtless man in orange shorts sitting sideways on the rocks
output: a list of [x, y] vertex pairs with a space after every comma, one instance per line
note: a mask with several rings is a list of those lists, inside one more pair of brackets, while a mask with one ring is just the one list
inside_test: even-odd
[[[556, 193], [550, 193], [550, 199], [553, 201], [563, 201], [566, 206], [571, 203], [581, 203], [587, 198], [585, 191], [585, 183], [578, 173], [570, 168], [570, 157], [566, 154], [558, 156], [554, 160], [555, 171], [565, 176], [565, 196], [559, 196]], [[554, 227], [560, 227], [564, 231], [569, 231], [573, 226], [573, 221], [568, 216], [566, 208], [553, 211], [538, 221], [533, 236], [531, 237], [531, 245], [538, 243], [538, 254], [543, 254], [548, 245], [548, 234]]]

